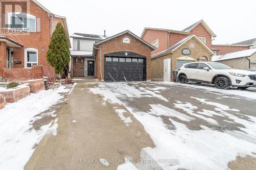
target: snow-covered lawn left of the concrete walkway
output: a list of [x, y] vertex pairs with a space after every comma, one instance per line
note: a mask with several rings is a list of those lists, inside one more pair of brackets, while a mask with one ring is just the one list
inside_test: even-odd
[[[65, 86], [41, 90], [0, 110], [0, 169], [23, 169], [42, 137], [47, 133], [57, 134], [55, 118], [39, 130], [33, 128], [33, 123], [44, 117], [38, 114], [61, 102], [63, 94], [69, 94], [71, 90]], [[50, 111], [45, 115], [56, 116], [53, 113]]]

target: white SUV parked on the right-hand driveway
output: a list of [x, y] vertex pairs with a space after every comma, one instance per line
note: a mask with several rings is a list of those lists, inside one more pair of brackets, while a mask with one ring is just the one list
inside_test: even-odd
[[239, 89], [256, 86], [255, 72], [233, 69], [218, 62], [184, 64], [178, 70], [178, 78], [180, 83], [208, 83], [220, 89], [228, 89], [230, 86]]

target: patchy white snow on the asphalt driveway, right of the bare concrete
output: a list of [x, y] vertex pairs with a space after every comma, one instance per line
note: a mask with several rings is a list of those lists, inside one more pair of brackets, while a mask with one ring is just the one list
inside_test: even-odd
[[[159, 88], [163, 85], [163, 88]], [[149, 86], [157, 86], [157, 88]], [[188, 98], [185, 100], [182, 98], [183, 93], [179, 92], [180, 94], [176, 94], [178, 99], [175, 102], [174, 99], [170, 99], [175, 96], [177, 90], [184, 87], [193, 90], [194, 93], [197, 90], [198, 95], [189, 96], [186, 93], [184, 95], [188, 95]], [[104, 102], [125, 106], [139, 120], [156, 145], [155, 148], [144, 148], [143, 151], [147, 152], [163, 169], [228, 169], [228, 163], [235, 160], [237, 156], [256, 157], [253, 154], [256, 153], [256, 117], [245, 115], [245, 112], [232, 108], [226, 103], [220, 104], [212, 102], [210, 99], [204, 99], [201, 95], [202, 89], [214, 93], [224, 93], [223, 98], [228, 97], [229, 100], [233, 100], [234, 96], [250, 100], [256, 99], [256, 91], [253, 90], [222, 91], [212, 87], [179, 85], [177, 83], [99, 83], [98, 87], [90, 90], [95, 94], [102, 95]], [[158, 90], [160, 93], [154, 92], [154, 90]], [[164, 94], [165, 90], [167, 92]], [[170, 98], [167, 98], [166, 94]], [[135, 105], [134, 101], [139, 98], [143, 98], [140, 102], [146, 102]], [[194, 100], [196, 104], [187, 102], [188, 99]], [[155, 103], [152, 104], [152, 101]], [[140, 105], [147, 105], [143, 106], [143, 109], [146, 107], [150, 109], [142, 111], [139, 109]], [[173, 105], [173, 107], [166, 107], [166, 105]], [[205, 107], [213, 109], [207, 110]], [[200, 121], [205, 121], [210, 126], [204, 126]], [[168, 126], [166, 126], [166, 122], [169, 123]], [[196, 124], [198, 122], [199, 130], [188, 128], [189, 123]], [[222, 125], [224, 123], [225, 125]], [[229, 130], [226, 124], [232, 124], [236, 129]], [[209, 128], [211, 126], [212, 128]], [[161, 160], [179, 161], [178, 164], [174, 164], [161, 163]], [[136, 164], [134, 165], [138, 167]], [[125, 166], [125, 164], [120, 165], [120, 169], [125, 169], [123, 168]]]

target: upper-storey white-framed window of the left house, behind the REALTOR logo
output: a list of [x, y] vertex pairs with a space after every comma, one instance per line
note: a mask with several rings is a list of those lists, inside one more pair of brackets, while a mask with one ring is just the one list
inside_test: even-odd
[[36, 31], [36, 17], [28, 13], [8, 13], [8, 29]]

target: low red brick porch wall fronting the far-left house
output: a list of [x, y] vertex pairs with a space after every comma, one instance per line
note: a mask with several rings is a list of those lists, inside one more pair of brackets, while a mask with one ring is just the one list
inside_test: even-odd
[[4, 68], [3, 80], [8, 82], [15, 80], [41, 79], [44, 70], [42, 65], [32, 65], [32, 68]]

